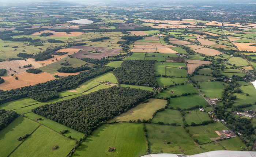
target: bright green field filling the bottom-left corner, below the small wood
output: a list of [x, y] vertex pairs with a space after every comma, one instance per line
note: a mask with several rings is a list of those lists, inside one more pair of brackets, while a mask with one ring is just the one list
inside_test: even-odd
[[1, 156], [7, 157], [22, 142], [17, 139], [25, 134], [31, 134], [38, 126], [39, 123], [18, 116], [0, 131]]

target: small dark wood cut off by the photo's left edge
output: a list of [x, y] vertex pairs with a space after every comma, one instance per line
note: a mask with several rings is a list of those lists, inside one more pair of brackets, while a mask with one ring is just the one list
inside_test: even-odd
[[12, 122], [19, 115], [14, 111], [0, 110], [0, 131], [3, 130], [8, 124]]

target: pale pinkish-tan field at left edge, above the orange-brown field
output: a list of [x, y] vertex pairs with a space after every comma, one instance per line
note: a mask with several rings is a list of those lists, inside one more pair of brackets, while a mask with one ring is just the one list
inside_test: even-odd
[[[23, 65], [28, 65], [28, 64], [32, 64], [32, 66], [29, 68], [23, 68]], [[41, 67], [41, 65], [38, 62], [36, 62], [35, 59], [29, 58], [27, 59], [27, 61], [16, 60], [16, 61], [0, 62], [0, 67], [3, 69], [6, 69], [7, 75], [11, 75], [11, 74], [19, 74], [19, 73], [25, 72], [27, 69], [30, 69], [30, 68], [39, 68]], [[10, 70], [10, 68], [12, 70]], [[16, 73], [14, 71], [16, 71]]]

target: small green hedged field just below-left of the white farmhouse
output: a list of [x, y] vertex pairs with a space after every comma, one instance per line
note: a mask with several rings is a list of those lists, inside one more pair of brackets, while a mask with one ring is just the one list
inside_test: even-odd
[[192, 113], [185, 114], [185, 120], [188, 125], [190, 125], [192, 122], [196, 124], [200, 124], [203, 121], [210, 120], [207, 112], [201, 112], [198, 109], [196, 111], [190, 111]]

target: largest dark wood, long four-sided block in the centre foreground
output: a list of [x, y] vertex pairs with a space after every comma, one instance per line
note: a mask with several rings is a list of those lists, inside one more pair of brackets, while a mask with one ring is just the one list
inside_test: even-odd
[[153, 92], [150, 91], [114, 86], [70, 100], [46, 104], [32, 112], [87, 133], [152, 96]]

